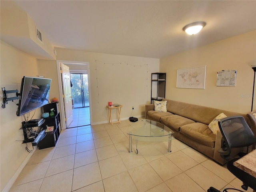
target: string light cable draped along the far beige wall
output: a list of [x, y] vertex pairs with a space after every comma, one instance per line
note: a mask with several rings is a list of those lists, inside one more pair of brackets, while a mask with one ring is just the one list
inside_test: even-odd
[[98, 63], [101, 63], [101, 64], [104, 64], [104, 65], [125, 65], [125, 66], [133, 66], [134, 68], [137, 68], [137, 67], [143, 67], [143, 66], [146, 66], [146, 88], [147, 88], [147, 98], [148, 98], [148, 64], [141, 64], [141, 65], [134, 65], [134, 64], [129, 64], [127, 62], [118, 62], [118, 63], [107, 63], [107, 62], [102, 62], [102, 61], [99, 61], [99, 60], [95, 60], [95, 70], [96, 70], [96, 82], [97, 82], [97, 94], [98, 94], [98, 103], [99, 103], [99, 87], [98, 87], [98, 68], [97, 68], [97, 62]]

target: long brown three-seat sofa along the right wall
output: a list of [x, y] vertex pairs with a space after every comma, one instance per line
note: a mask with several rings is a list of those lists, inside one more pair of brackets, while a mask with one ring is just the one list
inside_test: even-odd
[[154, 104], [147, 104], [145, 118], [168, 126], [174, 132], [174, 138], [202, 152], [219, 164], [225, 164], [226, 161], [218, 153], [221, 148], [222, 134], [220, 130], [216, 135], [213, 134], [208, 125], [220, 113], [228, 117], [240, 115], [247, 121], [246, 114], [169, 99], [163, 99], [163, 101], [167, 101], [167, 112], [154, 111]]

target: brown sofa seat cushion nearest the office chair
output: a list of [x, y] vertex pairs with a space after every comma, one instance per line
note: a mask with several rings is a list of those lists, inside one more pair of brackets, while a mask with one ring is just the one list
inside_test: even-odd
[[186, 124], [180, 127], [180, 133], [209, 147], [215, 146], [216, 135], [212, 133], [208, 125], [202, 123]]

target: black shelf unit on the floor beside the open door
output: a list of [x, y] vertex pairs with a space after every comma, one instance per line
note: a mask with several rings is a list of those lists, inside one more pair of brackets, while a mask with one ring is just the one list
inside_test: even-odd
[[44, 118], [44, 123], [41, 125], [41, 130], [46, 129], [46, 126], [54, 126], [54, 130], [46, 132], [46, 135], [38, 142], [37, 146], [39, 149], [54, 147], [60, 136], [61, 124], [60, 124], [60, 113], [58, 111], [58, 102], [52, 102], [43, 106], [44, 112], [49, 112], [54, 108], [54, 116]]

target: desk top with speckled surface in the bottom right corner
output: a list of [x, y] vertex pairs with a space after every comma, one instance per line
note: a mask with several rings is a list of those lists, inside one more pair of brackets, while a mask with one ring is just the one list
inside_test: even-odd
[[256, 150], [235, 161], [234, 166], [256, 178]]

